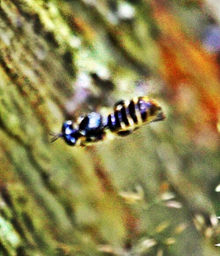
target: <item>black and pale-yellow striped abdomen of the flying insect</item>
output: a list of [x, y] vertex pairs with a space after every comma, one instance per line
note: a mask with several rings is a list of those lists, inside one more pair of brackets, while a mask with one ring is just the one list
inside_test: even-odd
[[112, 132], [132, 132], [142, 124], [164, 120], [161, 107], [152, 99], [142, 96], [131, 101], [120, 101], [108, 116], [107, 128]]

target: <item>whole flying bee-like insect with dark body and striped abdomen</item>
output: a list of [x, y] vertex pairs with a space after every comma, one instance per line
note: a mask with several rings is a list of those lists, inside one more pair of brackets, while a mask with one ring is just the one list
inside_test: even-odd
[[143, 124], [161, 120], [165, 120], [165, 113], [158, 103], [147, 96], [136, 97], [117, 102], [108, 116], [92, 112], [76, 123], [65, 121], [61, 133], [51, 134], [52, 142], [63, 138], [70, 146], [86, 146], [105, 139], [108, 132], [127, 136]]

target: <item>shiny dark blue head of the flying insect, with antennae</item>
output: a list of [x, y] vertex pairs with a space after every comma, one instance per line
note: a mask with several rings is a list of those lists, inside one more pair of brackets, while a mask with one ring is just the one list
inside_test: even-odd
[[63, 138], [70, 146], [75, 146], [77, 139], [81, 136], [78, 129], [73, 128], [73, 122], [68, 120], [62, 124], [62, 132], [57, 134], [51, 134], [54, 138], [51, 140], [54, 142], [56, 139]]

